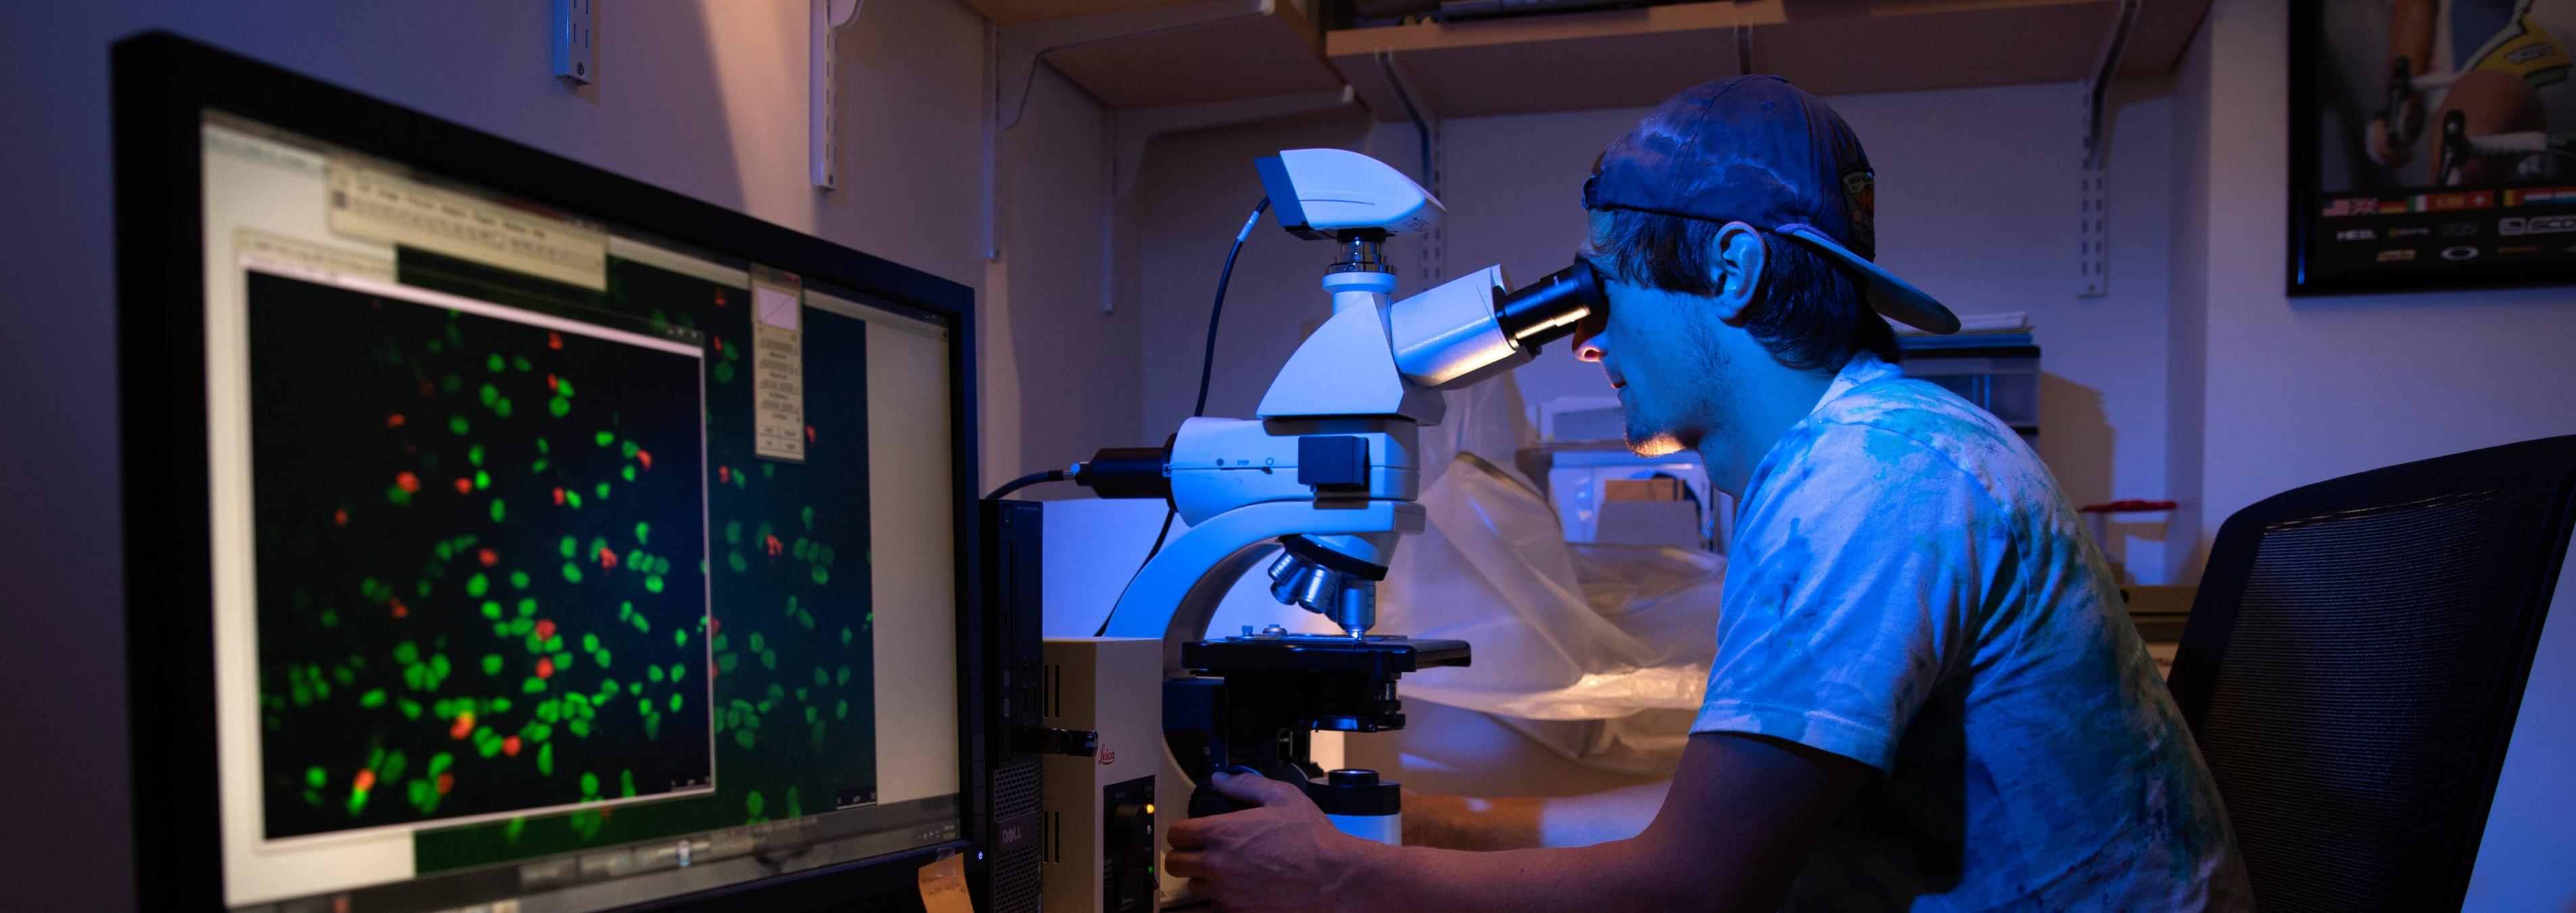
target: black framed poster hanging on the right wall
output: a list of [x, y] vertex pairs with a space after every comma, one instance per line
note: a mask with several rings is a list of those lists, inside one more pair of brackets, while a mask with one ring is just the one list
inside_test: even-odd
[[2290, 293], [2576, 283], [2576, 0], [2293, 0]]

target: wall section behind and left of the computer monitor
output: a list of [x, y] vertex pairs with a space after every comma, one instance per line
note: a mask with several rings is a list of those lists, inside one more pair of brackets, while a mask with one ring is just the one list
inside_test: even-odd
[[[170, 28], [976, 285], [987, 476], [1133, 437], [1123, 352], [1136, 319], [1097, 309], [1097, 190], [1005, 193], [994, 285], [1010, 293], [987, 296], [984, 21], [956, 0], [863, 8], [842, 36], [842, 190], [824, 195], [806, 180], [806, 15], [804, 0], [608, 3], [600, 82], [574, 93], [549, 77], [546, 3], [531, 0], [8, 5], [0, 339], [13, 352], [0, 388], [15, 396], [0, 419], [0, 694], [13, 746], [0, 782], [13, 787], [0, 823], [18, 838], [0, 864], [5, 905], [131, 905], [116, 466], [152, 455], [118, 453], [113, 429], [108, 44], [121, 36]], [[1046, 72], [1005, 136], [1002, 175], [1079, 185], [1103, 144], [1097, 103]], [[1048, 288], [1084, 262], [1090, 291]], [[1066, 360], [1108, 393], [1074, 396]]]

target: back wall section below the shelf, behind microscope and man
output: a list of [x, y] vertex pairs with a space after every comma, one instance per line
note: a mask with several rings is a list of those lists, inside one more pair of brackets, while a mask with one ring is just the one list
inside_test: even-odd
[[[1878, 170], [1880, 262], [1958, 311], [2030, 311], [2043, 368], [2040, 455], [2076, 502], [2166, 496], [2166, 219], [2172, 193], [2164, 85], [2123, 93], [2112, 118], [2112, 280], [2076, 296], [2074, 85], [1842, 95], [1829, 100]], [[1582, 242], [1582, 183], [1592, 159], [1641, 108], [1448, 121], [1448, 275], [1502, 262], [1528, 283], [1571, 262]], [[1260, 198], [1252, 159], [1293, 147], [1373, 152], [1417, 170], [1409, 126], [1345, 116], [1311, 123], [1170, 136], [1146, 157], [1149, 195], [1136, 234], [1154, 270], [1144, 283], [1144, 424], [1167, 429], [1190, 409], [1208, 298], [1226, 242]], [[1419, 283], [1412, 249], [1391, 252]], [[1296, 350], [1301, 321], [1327, 311], [1316, 278], [1329, 244], [1262, 226], [1236, 265], [1218, 339], [1211, 414], [1249, 414]], [[1600, 368], [1564, 347], [1512, 373], [1525, 401], [1602, 396]], [[2164, 525], [2123, 525], [2115, 553], [2164, 581]]]

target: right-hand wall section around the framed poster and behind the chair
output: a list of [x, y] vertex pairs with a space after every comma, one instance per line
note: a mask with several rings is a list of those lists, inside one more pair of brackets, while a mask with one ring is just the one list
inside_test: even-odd
[[[2177, 80], [2174, 435], [2197, 550], [2236, 509], [2367, 468], [2576, 432], [2568, 288], [2287, 298], [2287, 0], [2218, 0]], [[2200, 345], [2187, 345], [2200, 342]], [[2192, 558], [2197, 576], [2200, 558]], [[2563, 579], [2566, 584], [2566, 579]], [[2470, 908], [2576, 905], [2576, 586], [2543, 635]]]

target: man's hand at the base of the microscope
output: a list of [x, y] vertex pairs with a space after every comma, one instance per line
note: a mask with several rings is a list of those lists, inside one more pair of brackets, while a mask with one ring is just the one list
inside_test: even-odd
[[1260, 805], [1226, 815], [1175, 823], [1164, 872], [1190, 880], [1190, 892], [1226, 913], [1358, 910], [1363, 898], [1345, 890], [1358, 854], [1370, 846], [1324, 820], [1306, 790], [1260, 777], [1216, 774], [1216, 792]]

